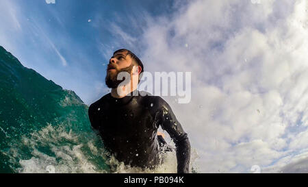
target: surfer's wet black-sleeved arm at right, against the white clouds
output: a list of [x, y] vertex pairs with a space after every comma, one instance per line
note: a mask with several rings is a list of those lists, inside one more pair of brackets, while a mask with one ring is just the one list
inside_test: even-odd
[[184, 132], [168, 103], [161, 97], [159, 97], [159, 108], [158, 114], [162, 120], [160, 123], [162, 129], [168, 132], [177, 147], [177, 173], [189, 173], [190, 141], [188, 134]]

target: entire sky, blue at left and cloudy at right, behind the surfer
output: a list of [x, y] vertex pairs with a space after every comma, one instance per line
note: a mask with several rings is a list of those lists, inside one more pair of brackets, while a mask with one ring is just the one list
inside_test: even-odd
[[165, 99], [198, 172], [308, 172], [307, 3], [1, 0], [0, 45], [87, 104], [116, 49], [192, 72], [190, 103]]

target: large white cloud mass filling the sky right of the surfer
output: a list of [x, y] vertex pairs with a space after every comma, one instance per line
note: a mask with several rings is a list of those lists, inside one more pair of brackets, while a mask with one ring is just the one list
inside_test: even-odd
[[193, 1], [170, 17], [149, 18], [137, 40], [145, 71], [192, 72], [191, 103], [167, 100], [198, 171], [292, 165], [308, 148], [307, 1]]

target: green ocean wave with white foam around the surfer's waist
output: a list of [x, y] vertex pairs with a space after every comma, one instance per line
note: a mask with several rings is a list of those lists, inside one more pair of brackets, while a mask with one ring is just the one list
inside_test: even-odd
[[75, 92], [0, 47], [0, 173], [176, 173], [175, 153], [162, 156], [153, 170], [118, 162], [90, 128], [88, 105]]

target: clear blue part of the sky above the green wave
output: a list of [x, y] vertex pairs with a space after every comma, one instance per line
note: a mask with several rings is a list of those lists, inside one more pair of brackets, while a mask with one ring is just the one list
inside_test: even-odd
[[[63, 88], [74, 90], [87, 104], [107, 93], [105, 65], [112, 51], [129, 47], [140, 55], [138, 41], [127, 45], [111, 24], [116, 23], [131, 36], [138, 36], [142, 24], [146, 24], [140, 12], [153, 18], [172, 12], [172, 1], [47, 2], [1, 1], [5, 10], [0, 13], [0, 45], [24, 66], [34, 68]], [[135, 18], [135, 23], [127, 20], [129, 16]], [[131, 24], [139, 25], [140, 29]]]

